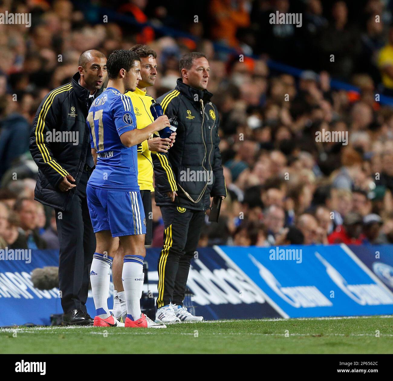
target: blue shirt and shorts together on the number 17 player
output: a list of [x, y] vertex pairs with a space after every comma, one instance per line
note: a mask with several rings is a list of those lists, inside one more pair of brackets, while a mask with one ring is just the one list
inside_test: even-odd
[[136, 129], [130, 97], [108, 87], [95, 98], [87, 122], [91, 148], [97, 154], [87, 190], [94, 233], [110, 230], [112, 237], [145, 234], [137, 147], [126, 147], [120, 140], [121, 134]]

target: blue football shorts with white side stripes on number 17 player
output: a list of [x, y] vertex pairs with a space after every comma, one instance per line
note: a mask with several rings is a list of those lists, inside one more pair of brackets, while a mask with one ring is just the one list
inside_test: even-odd
[[111, 191], [86, 187], [94, 233], [110, 230], [112, 237], [146, 234], [146, 218], [139, 191]]

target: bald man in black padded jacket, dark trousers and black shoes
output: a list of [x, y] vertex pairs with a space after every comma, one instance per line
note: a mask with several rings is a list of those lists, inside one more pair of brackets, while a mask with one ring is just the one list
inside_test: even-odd
[[86, 118], [102, 91], [106, 63], [101, 52], [84, 52], [71, 83], [52, 90], [41, 102], [30, 136], [30, 152], [39, 167], [35, 200], [56, 211], [59, 289], [66, 324], [93, 324], [85, 306], [95, 251], [86, 200], [86, 184], [94, 168]]

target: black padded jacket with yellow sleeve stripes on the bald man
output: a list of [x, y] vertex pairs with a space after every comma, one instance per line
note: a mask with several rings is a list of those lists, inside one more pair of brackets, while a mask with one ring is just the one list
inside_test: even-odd
[[68, 210], [75, 188], [61, 192], [59, 183], [70, 174], [78, 186], [86, 162], [93, 163], [86, 124], [90, 91], [79, 85], [79, 79], [76, 73], [70, 83], [45, 96], [30, 135], [31, 156], [39, 168], [34, 198], [62, 211]]

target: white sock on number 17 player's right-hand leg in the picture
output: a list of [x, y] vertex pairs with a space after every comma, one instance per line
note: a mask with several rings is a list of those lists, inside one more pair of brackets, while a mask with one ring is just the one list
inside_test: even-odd
[[143, 257], [141, 255], [126, 255], [124, 257], [123, 288], [127, 301], [127, 317], [138, 320], [141, 317], [141, 296], [143, 289]]

